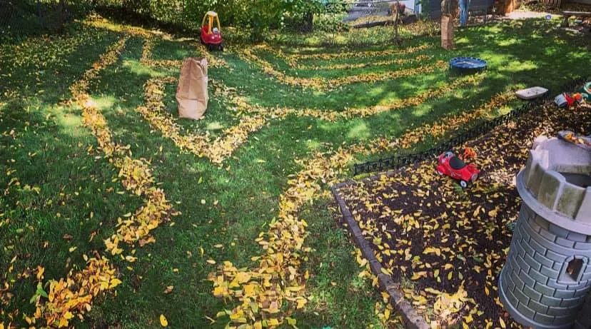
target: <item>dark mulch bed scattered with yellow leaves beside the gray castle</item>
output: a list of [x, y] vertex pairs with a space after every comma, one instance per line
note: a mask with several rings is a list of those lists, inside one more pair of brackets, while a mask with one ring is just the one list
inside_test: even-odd
[[535, 136], [589, 133], [590, 126], [591, 107], [557, 110], [549, 102], [466, 144], [487, 176], [465, 190], [438, 176], [433, 159], [339, 192], [380, 263], [433, 328], [518, 326], [497, 294], [521, 204], [515, 175]]

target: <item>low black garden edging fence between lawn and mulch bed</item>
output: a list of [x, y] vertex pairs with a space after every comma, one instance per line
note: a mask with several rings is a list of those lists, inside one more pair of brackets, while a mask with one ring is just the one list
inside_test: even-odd
[[[581, 83], [585, 83], [585, 81], [587, 81], [586, 77], [574, 79], [570, 81], [570, 83], [563, 85], [560, 88], [560, 92], [572, 91]], [[543, 102], [547, 101], [550, 98], [550, 95], [552, 95], [552, 91], [549, 90], [544, 94], [544, 96], [537, 98], [535, 101], [525, 103], [523, 106], [515, 108], [503, 116], [498, 116], [492, 120], [479, 123], [477, 126], [470, 128], [468, 131], [460, 132], [453, 138], [439, 143], [438, 146], [430, 148], [426, 151], [412, 153], [405, 156], [390, 156], [388, 158], [380, 158], [378, 160], [367, 161], [365, 163], [356, 163], [353, 165], [353, 176], [359, 175], [360, 173], [373, 173], [375, 171], [396, 169], [403, 166], [408, 166], [418, 161], [427, 160], [428, 158], [435, 158], [445, 151], [450, 151], [452, 148], [463, 144], [470, 139], [488, 133], [493, 128], [507, 123], [508, 121], [512, 121], [513, 119], [518, 118], [529, 111], [532, 111], [534, 108], [537, 108]]]

